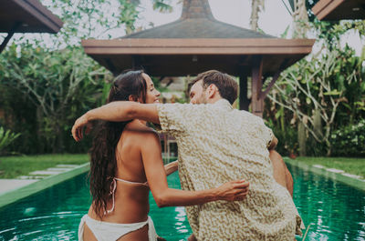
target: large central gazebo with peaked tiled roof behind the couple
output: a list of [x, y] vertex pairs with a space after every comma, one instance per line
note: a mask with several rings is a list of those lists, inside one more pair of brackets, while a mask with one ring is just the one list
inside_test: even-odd
[[[113, 40], [83, 40], [85, 52], [117, 75], [140, 68], [153, 76], [197, 75], [217, 69], [239, 76], [240, 108], [252, 104], [262, 116], [263, 101], [277, 77], [308, 55], [315, 40], [280, 39], [217, 21], [208, 0], [184, 0], [179, 20]], [[247, 98], [247, 77], [252, 97]], [[263, 80], [272, 76], [265, 91]]]

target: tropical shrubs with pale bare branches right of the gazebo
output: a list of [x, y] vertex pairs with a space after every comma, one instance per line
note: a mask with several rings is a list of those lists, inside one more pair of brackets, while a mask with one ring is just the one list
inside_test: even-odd
[[338, 146], [331, 140], [332, 133], [365, 116], [365, 56], [355, 55], [349, 45], [341, 47], [340, 37], [354, 30], [364, 35], [365, 22], [315, 21], [310, 25], [321, 48], [281, 75], [266, 102], [266, 116], [272, 118], [272, 126], [284, 137], [281, 147], [285, 153], [298, 153], [300, 146], [287, 143], [297, 141], [284, 126], [298, 130], [304, 125], [308, 155], [339, 155], [333, 152]]

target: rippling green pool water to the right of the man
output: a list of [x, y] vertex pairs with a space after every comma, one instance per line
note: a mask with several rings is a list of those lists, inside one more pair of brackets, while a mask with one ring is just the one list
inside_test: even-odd
[[305, 224], [306, 240], [365, 240], [365, 193], [324, 176], [288, 166], [294, 176], [294, 202]]

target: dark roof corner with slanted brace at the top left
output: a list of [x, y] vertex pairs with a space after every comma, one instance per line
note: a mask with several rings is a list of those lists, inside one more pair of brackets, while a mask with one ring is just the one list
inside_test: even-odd
[[15, 33], [56, 34], [62, 21], [38, 0], [0, 0], [0, 33], [7, 33], [0, 53]]

